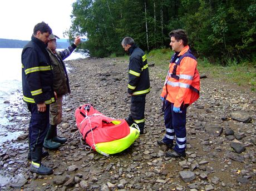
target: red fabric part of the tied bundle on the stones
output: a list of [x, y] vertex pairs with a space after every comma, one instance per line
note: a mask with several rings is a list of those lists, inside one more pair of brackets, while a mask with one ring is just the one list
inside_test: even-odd
[[[85, 109], [86, 107], [90, 108], [90, 110], [87, 111]], [[86, 118], [80, 112], [86, 115]], [[75, 117], [77, 128], [83, 135], [83, 139], [85, 139], [86, 143], [93, 149], [95, 149], [93, 139], [95, 144], [104, 143], [124, 138], [130, 133], [130, 128], [126, 120], [106, 117], [94, 109], [90, 104], [84, 104], [81, 107], [78, 107], [75, 112]], [[121, 123], [115, 125], [111, 123], [113, 120], [118, 120]], [[91, 132], [91, 129], [93, 128], [95, 129]], [[90, 132], [85, 138], [85, 135], [89, 130]]]

